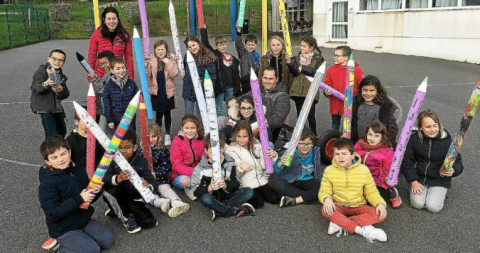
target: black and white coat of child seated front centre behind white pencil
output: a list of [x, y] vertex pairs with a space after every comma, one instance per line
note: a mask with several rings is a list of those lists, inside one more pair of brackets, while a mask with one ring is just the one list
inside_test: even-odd
[[[222, 162], [222, 175], [225, 178], [225, 184], [227, 185], [226, 190], [218, 189], [213, 191], [212, 194], [219, 201], [224, 201], [229, 199], [229, 194], [236, 192], [240, 188], [240, 182], [237, 179], [237, 171], [235, 166], [235, 161], [233, 158], [224, 155]], [[193, 195], [200, 198], [204, 194], [208, 193], [208, 186], [212, 182], [213, 178], [213, 165], [208, 161], [208, 155], [203, 156], [198, 165], [195, 167], [191, 177], [191, 189], [193, 190]]]

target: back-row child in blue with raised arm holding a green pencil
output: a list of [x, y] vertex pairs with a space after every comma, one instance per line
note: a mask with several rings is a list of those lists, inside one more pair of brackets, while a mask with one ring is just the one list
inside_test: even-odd
[[[250, 88], [250, 70], [253, 68], [258, 73], [260, 67], [260, 55], [257, 49], [257, 36], [253, 33], [245, 37], [245, 45], [242, 43], [242, 28], [237, 27], [237, 36], [235, 37], [235, 48], [240, 59], [240, 82], [241, 93], [236, 96], [246, 94]], [[229, 100], [228, 100], [229, 101]]]

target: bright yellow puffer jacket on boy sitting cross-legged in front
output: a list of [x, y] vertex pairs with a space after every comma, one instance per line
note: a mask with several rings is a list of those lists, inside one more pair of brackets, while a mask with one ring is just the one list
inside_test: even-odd
[[332, 160], [332, 165], [325, 169], [318, 199], [323, 204], [326, 198], [347, 207], [366, 205], [367, 201], [374, 207], [378, 204], [387, 206], [375, 186], [370, 170], [362, 164], [358, 155], [348, 168], [340, 167]]

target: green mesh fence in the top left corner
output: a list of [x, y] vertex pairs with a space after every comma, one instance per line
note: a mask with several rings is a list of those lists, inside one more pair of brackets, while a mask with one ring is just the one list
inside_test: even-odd
[[48, 40], [48, 9], [31, 5], [0, 5], [0, 50]]

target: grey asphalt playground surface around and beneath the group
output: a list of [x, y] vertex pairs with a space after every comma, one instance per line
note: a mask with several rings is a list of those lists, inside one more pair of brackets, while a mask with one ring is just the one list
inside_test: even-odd
[[[210, 39], [213, 44], [213, 37]], [[298, 52], [298, 38], [293, 41], [297, 44], [294, 52]], [[233, 53], [233, 44], [228, 46]], [[40, 117], [29, 108], [29, 87], [38, 65], [45, 63], [48, 52], [54, 48], [67, 52], [64, 73], [69, 77], [71, 95], [63, 105], [70, 132], [73, 128], [71, 101], [84, 101], [88, 87], [75, 51], [86, 56], [88, 40], [47, 41], [0, 51], [1, 252], [42, 252], [40, 245], [48, 238], [45, 216], [37, 199], [38, 167], [43, 163], [39, 146], [44, 133]], [[333, 50], [322, 50], [330, 66]], [[402, 106], [404, 117], [400, 127], [416, 88], [428, 76], [430, 82], [422, 109], [437, 111], [446, 129], [452, 134], [457, 131], [473, 85], [479, 80], [478, 65], [362, 51], [354, 54], [365, 74], [378, 76]], [[172, 133], [178, 131], [184, 114], [181, 80], [181, 77], [176, 79], [179, 92], [177, 109], [172, 113]], [[291, 108], [293, 126], [296, 120], [293, 102]], [[322, 133], [331, 124], [327, 100], [322, 97], [316, 108], [318, 132]], [[94, 204], [94, 218], [115, 234], [116, 242], [109, 252], [480, 252], [477, 218], [480, 177], [475, 165], [479, 125], [476, 119], [470, 126], [461, 150], [465, 170], [454, 179], [444, 210], [439, 214], [411, 208], [408, 186], [400, 177], [398, 188], [404, 204], [398, 210], [388, 208], [386, 221], [377, 226], [387, 233], [386, 243], [371, 244], [358, 235], [328, 236], [328, 221], [320, 213], [320, 204], [284, 209], [267, 204], [255, 217], [210, 221], [210, 210], [198, 201], [190, 201], [183, 192], [179, 192], [180, 197], [191, 205], [188, 213], [169, 218], [152, 208], [160, 225], [137, 234], [128, 234], [119, 220], [104, 217], [106, 205], [102, 201]]]

